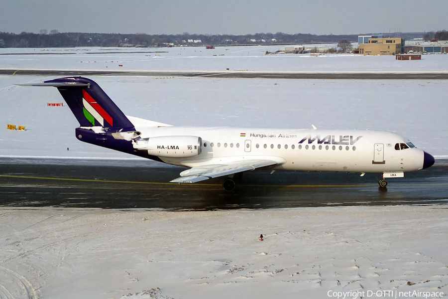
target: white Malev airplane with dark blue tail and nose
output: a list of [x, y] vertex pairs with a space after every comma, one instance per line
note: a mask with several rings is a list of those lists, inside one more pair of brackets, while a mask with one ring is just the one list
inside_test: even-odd
[[[226, 177], [255, 169], [382, 173], [386, 178], [428, 168], [434, 157], [391, 132], [359, 130], [176, 127], [125, 116], [101, 87], [83, 77], [59, 78], [20, 86], [56, 87], [78, 120], [82, 142], [140, 157], [190, 167], [173, 183]], [[272, 173], [271, 172], [271, 173]]]

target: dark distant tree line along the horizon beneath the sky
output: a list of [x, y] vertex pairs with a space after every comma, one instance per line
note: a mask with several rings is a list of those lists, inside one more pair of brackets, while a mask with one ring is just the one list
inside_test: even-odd
[[[401, 33], [406, 39], [422, 37], [423, 32]], [[39, 33], [19, 34], [0, 32], [2, 48], [44, 48], [44, 47], [156, 47], [172, 45], [251, 45], [251, 44], [310, 44], [337, 43], [340, 40], [357, 41], [357, 34], [316, 35], [255, 33], [245, 35], [230, 34], [123, 34], [123, 33], [61, 33], [58, 30], [42, 29]]]

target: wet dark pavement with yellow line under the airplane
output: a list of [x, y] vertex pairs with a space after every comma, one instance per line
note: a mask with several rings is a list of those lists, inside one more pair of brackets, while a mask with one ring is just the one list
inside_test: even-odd
[[223, 178], [169, 183], [183, 169], [145, 160], [0, 158], [0, 206], [214, 210], [448, 203], [446, 160], [389, 179], [387, 190], [378, 188], [380, 174], [300, 171], [245, 172], [232, 193], [223, 190]]

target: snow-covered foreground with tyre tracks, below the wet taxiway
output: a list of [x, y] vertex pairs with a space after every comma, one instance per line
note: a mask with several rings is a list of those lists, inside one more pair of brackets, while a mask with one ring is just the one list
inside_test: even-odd
[[0, 298], [441, 298], [447, 225], [434, 206], [3, 208]]

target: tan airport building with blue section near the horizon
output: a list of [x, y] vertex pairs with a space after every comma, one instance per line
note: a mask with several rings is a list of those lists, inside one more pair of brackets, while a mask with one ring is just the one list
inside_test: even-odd
[[358, 36], [359, 54], [363, 55], [395, 55], [404, 52], [405, 39], [400, 37], [386, 38], [383, 35]]

